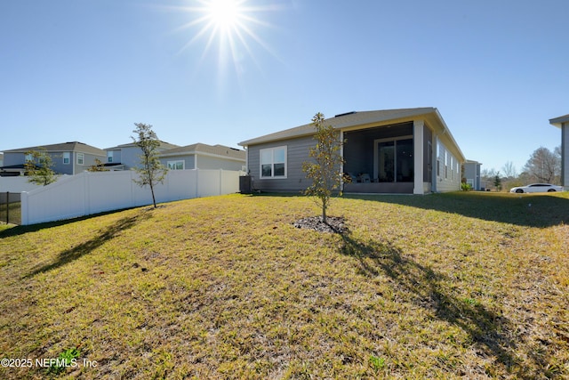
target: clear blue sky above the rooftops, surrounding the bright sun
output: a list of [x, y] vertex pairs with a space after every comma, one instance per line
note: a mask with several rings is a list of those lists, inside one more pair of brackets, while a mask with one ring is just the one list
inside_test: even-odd
[[[212, 0], [213, 1], [213, 0]], [[519, 171], [569, 113], [566, 0], [0, 2], [0, 151], [239, 141], [352, 110], [437, 107], [469, 159]], [[232, 47], [231, 47], [232, 46]]]

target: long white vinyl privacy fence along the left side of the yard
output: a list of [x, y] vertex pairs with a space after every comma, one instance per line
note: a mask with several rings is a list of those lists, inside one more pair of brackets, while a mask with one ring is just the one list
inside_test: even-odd
[[[230, 194], [239, 190], [241, 172], [172, 170], [155, 188], [156, 203]], [[152, 204], [149, 186], [132, 180], [134, 171], [84, 172], [21, 193], [21, 224], [35, 224]]]

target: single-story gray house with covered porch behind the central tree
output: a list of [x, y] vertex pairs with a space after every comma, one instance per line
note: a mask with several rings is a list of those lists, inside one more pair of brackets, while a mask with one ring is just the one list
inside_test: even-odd
[[[349, 112], [325, 120], [346, 142], [342, 172], [357, 193], [413, 193], [461, 189], [465, 161], [436, 108]], [[316, 145], [312, 124], [240, 142], [255, 190], [298, 191], [309, 186], [302, 172]]]

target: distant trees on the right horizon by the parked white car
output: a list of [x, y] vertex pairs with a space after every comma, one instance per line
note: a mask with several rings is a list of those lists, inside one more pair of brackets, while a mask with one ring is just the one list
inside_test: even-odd
[[483, 169], [480, 176], [486, 189], [498, 191], [536, 182], [561, 184], [561, 146], [553, 151], [545, 147], [534, 150], [519, 173], [507, 161], [500, 170]]

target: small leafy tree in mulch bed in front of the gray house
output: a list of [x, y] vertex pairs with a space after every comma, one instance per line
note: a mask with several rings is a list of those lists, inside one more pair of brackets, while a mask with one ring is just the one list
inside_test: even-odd
[[315, 162], [302, 163], [302, 171], [312, 184], [305, 190], [305, 194], [313, 197], [318, 206], [322, 207], [322, 222], [326, 222], [326, 210], [335, 190], [341, 185], [341, 164], [344, 160], [340, 151], [344, 141], [340, 133], [332, 125], [325, 125], [325, 117], [318, 112], [312, 117], [317, 133], [314, 139], [317, 145], [309, 150], [309, 157]]

